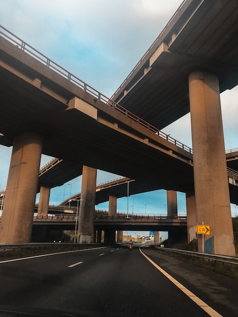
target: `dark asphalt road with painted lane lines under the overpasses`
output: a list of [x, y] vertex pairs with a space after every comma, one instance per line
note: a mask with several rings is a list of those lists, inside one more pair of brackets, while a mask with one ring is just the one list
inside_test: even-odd
[[141, 251], [107, 247], [0, 261], [0, 316], [238, 315], [237, 280], [147, 246]]

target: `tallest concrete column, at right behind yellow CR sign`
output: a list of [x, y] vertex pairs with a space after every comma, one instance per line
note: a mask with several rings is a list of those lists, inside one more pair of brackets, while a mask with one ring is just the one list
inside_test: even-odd
[[205, 234], [205, 252], [234, 256], [218, 77], [191, 72], [189, 99], [197, 223], [211, 232]]

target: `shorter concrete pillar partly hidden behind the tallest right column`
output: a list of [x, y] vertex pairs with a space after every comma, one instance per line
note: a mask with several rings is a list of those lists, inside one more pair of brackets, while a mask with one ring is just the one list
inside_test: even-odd
[[194, 190], [186, 192], [187, 208], [187, 241], [188, 243], [196, 239], [196, 202]]

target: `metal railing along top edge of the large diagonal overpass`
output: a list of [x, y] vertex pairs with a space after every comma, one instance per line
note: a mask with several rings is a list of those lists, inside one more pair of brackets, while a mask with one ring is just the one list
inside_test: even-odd
[[99, 91], [95, 90], [93, 87], [89, 86], [85, 82], [83, 82], [80, 78], [74, 76], [72, 73], [61, 67], [59, 64], [52, 61], [50, 58], [42, 54], [41, 52], [34, 49], [32, 46], [24, 42], [20, 37], [6, 29], [4, 26], [0, 25], [0, 34], [7, 39], [10, 43], [16, 45], [21, 51], [27, 53], [37, 61], [43, 63], [50, 69], [54, 70], [64, 78], [66, 78], [69, 82], [75, 84], [77, 87], [80, 87], [83, 91], [89, 93], [93, 97], [97, 98], [98, 100], [104, 102], [108, 106], [112, 107], [113, 109], [119, 111], [123, 115], [129, 117], [134, 122], [138, 123], [139, 125], [145, 127], [146, 129], [154, 132], [158, 136], [162, 137], [163, 139], [166, 139], [170, 141], [171, 143], [177, 145], [178, 147], [184, 149], [185, 151], [192, 153], [192, 149], [183, 143], [175, 140], [170, 135], [167, 135], [166, 133], [160, 131], [159, 129], [153, 127], [146, 121], [139, 118], [134, 113], [128, 111], [126, 108], [122, 107], [120, 104], [117, 104], [116, 102], [112, 101], [105, 95], [101, 94]]

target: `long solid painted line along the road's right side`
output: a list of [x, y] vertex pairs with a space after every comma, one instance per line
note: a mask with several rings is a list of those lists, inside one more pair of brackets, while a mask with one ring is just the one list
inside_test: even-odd
[[208, 306], [204, 301], [202, 301], [199, 297], [194, 295], [192, 292], [190, 292], [188, 289], [186, 289], [182, 284], [180, 284], [178, 281], [176, 281], [173, 276], [171, 276], [169, 273], [167, 273], [163, 268], [158, 266], [156, 263], [154, 263], [152, 260], [150, 260], [147, 255], [145, 255], [141, 251], [141, 247], [139, 248], [140, 253], [143, 254], [143, 256], [151, 263], [154, 267], [156, 267], [162, 274], [164, 274], [172, 283], [174, 283], [175, 286], [177, 286], [184, 294], [186, 294], [191, 300], [194, 301], [197, 305], [199, 305], [203, 310], [205, 310], [210, 316], [212, 317], [222, 317], [217, 311], [215, 311], [212, 307]]

